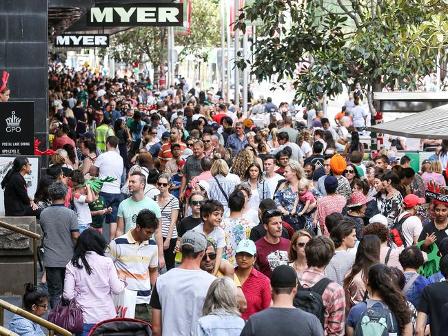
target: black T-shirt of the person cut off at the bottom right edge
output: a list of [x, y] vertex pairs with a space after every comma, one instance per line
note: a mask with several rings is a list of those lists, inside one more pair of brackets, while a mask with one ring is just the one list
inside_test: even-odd
[[[425, 229], [425, 228], [424, 228]], [[431, 336], [441, 336], [440, 323], [442, 323], [443, 306], [448, 302], [448, 282], [436, 282], [427, 285], [420, 295], [417, 311], [429, 315]]]

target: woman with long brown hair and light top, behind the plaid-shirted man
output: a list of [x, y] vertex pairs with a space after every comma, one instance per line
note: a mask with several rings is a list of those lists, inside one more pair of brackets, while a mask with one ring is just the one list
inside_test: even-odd
[[345, 275], [345, 311], [363, 302], [366, 295], [365, 283], [371, 266], [380, 263], [381, 240], [376, 235], [364, 235], [356, 251], [352, 271]]

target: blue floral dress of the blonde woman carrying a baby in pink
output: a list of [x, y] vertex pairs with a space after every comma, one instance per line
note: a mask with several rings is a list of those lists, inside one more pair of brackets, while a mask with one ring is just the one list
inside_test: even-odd
[[[292, 191], [291, 187], [287, 189], [278, 190], [275, 194], [276, 206], [285, 208], [286, 211], [291, 212], [294, 207], [294, 202], [298, 197], [298, 192]], [[303, 209], [303, 203], [297, 203], [296, 213], [289, 216], [282, 216], [282, 219], [287, 222], [295, 231], [300, 229], [312, 230], [313, 229], [313, 219], [311, 213], [305, 213], [303, 216], [296, 216], [297, 213], [301, 212]]]

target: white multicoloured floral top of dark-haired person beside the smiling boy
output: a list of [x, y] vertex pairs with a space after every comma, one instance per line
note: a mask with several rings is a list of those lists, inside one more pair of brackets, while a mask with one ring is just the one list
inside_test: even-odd
[[223, 259], [236, 267], [236, 246], [243, 239], [249, 239], [250, 231], [256, 226], [255, 223], [244, 218], [224, 218], [221, 222], [221, 229], [225, 233], [225, 247], [223, 249]]

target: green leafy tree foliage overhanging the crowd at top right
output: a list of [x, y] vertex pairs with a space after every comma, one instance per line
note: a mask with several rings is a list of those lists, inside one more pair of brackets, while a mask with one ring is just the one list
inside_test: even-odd
[[444, 56], [446, 9], [431, 0], [255, 0], [235, 29], [263, 21], [252, 64], [258, 81], [274, 76], [284, 87], [292, 78], [303, 105], [360, 83], [374, 112], [372, 92], [396, 83], [412, 89], [418, 74], [434, 70], [438, 52]]

